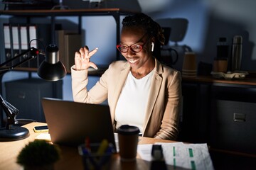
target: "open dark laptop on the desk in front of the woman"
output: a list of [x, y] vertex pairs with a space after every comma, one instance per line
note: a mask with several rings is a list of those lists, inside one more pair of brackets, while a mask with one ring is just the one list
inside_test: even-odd
[[106, 105], [42, 98], [43, 112], [51, 142], [76, 147], [107, 139], [116, 149], [110, 108]]

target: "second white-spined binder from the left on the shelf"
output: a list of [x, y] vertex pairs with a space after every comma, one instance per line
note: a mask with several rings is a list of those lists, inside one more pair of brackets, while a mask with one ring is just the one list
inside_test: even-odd
[[[11, 25], [11, 35], [12, 35], [12, 57], [16, 57], [20, 52], [20, 43], [19, 43], [19, 33], [18, 33], [18, 25]], [[19, 59], [13, 60], [13, 65], [17, 64]]]

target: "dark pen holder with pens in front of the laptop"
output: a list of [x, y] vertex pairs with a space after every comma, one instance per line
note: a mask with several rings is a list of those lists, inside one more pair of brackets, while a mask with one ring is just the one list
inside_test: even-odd
[[78, 146], [78, 152], [82, 156], [82, 162], [85, 170], [103, 170], [110, 169], [110, 159], [114, 152], [112, 144], [107, 145], [104, 152], [99, 152], [100, 143], [92, 143], [90, 147], [85, 144]]

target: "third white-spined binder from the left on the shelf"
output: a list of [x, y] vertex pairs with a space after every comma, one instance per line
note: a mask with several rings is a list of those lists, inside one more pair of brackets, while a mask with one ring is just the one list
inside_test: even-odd
[[[20, 51], [21, 53], [28, 50], [28, 26], [20, 25], [19, 26], [19, 35], [20, 35]], [[28, 53], [23, 55], [20, 58], [20, 61], [26, 60], [28, 58]], [[21, 64], [21, 67], [28, 67], [28, 62]]]

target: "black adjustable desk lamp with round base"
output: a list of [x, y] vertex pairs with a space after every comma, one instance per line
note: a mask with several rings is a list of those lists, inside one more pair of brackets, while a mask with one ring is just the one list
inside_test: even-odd
[[[4, 65], [9, 64], [13, 60], [23, 57], [23, 55], [26, 55], [28, 53], [30, 53], [29, 57], [22, 60], [21, 62], [18, 62], [17, 64], [14, 64], [11, 67], [2, 68]], [[9, 72], [10, 70], [14, 69], [18, 65], [23, 64], [24, 62], [28, 62], [28, 60], [36, 58], [39, 55], [39, 53], [40, 52], [38, 49], [31, 47], [25, 52], [22, 52], [20, 55], [13, 57], [11, 60], [8, 60], [0, 64], [0, 75]], [[39, 66], [38, 76], [41, 77], [41, 79], [45, 79], [47, 81], [58, 81], [60, 79], [63, 79], [67, 72], [64, 65], [59, 61], [58, 47], [56, 45], [50, 44], [46, 47], [46, 54], [41, 53], [41, 55], [45, 55], [46, 60], [44, 60]], [[16, 109], [7, 101], [4, 101], [1, 95], [0, 105], [4, 109], [4, 112], [6, 113], [7, 117], [6, 128], [1, 128], [0, 130], [0, 141], [22, 140], [28, 137], [29, 132], [26, 128], [13, 126], [18, 124], [18, 120], [16, 120], [16, 115], [18, 115], [19, 112], [18, 109]]]

